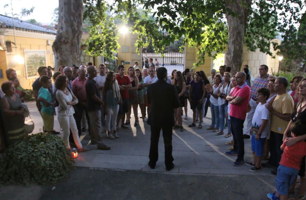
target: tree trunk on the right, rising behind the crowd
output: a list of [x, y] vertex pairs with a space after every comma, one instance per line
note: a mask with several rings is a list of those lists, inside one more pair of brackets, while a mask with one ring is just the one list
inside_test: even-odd
[[[237, 12], [234, 17], [226, 13], [229, 27], [229, 40], [225, 56], [225, 64], [232, 68], [232, 74], [241, 70], [243, 56], [243, 41], [248, 14], [251, 9], [251, 0], [227, 0], [226, 7]], [[244, 5], [242, 5], [242, 3]]]

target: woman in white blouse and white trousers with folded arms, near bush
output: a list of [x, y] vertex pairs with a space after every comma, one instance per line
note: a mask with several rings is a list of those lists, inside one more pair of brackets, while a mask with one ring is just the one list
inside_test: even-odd
[[78, 152], [89, 151], [88, 148], [82, 146], [80, 138], [78, 135], [78, 130], [76, 128], [76, 121], [73, 117], [74, 108], [73, 105], [78, 103], [76, 96], [70, 89], [67, 89], [68, 79], [66, 76], [58, 76], [55, 81], [55, 87], [58, 89], [56, 91], [56, 100], [58, 101], [58, 119], [59, 123], [63, 129], [64, 136], [63, 139], [65, 144], [70, 149], [69, 144], [69, 134], [70, 129], [73, 134], [73, 140], [78, 148]]

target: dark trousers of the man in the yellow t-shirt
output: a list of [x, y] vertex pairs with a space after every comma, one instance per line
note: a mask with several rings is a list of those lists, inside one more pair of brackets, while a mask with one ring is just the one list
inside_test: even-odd
[[275, 133], [274, 131], [270, 132], [270, 158], [269, 164], [274, 167], [278, 167], [279, 162], [282, 158], [283, 151], [280, 149], [281, 145], [283, 144], [283, 134]]

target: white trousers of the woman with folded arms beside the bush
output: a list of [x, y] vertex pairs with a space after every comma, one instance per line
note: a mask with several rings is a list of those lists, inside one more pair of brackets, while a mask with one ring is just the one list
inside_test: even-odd
[[67, 143], [68, 148], [70, 149], [70, 144], [69, 144], [70, 129], [73, 134], [72, 136], [73, 136], [74, 143], [76, 144], [76, 147], [82, 148], [83, 146], [80, 141], [79, 132], [76, 128], [76, 121], [73, 115], [70, 115], [70, 116], [58, 115], [58, 119], [59, 119], [59, 124], [61, 125], [63, 132], [64, 132], [63, 139], [65, 143]]

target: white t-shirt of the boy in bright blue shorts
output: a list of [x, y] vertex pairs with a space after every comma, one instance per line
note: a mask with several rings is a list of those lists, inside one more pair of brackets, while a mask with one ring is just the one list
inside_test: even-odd
[[[263, 119], [267, 119], [269, 120], [270, 117], [270, 112], [268, 111], [268, 109], [266, 108], [266, 105], [268, 103], [265, 103], [263, 105], [261, 105], [261, 103], [259, 103], [255, 109], [255, 113], [253, 115], [253, 119], [252, 119], [252, 126], [253, 126], [253, 135], [256, 135], [256, 133], [258, 132], [261, 123], [263, 122]], [[256, 128], [254, 128], [256, 127]], [[267, 123], [266, 127], [263, 129], [260, 138], [265, 138], [268, 136], [268, 131], [269, 131], [269, 122]]]

